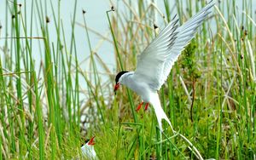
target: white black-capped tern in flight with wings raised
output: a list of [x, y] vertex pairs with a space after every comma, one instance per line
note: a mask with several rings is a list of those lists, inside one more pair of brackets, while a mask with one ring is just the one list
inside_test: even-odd
[[[143, 102], [146, 103], [145, 109], [147, 109], [148, 104], [154, 107], [161, 132], [163, 131], [162, 119], [165, 119], [171, 128], [172, 124], [160, 105], [157, 91], [166, 82], [177, 57], [195, 36], [197, 28], [207, 18], [207, 14], [210, 13], [209, 9], [213, 5], [212, 1], [208, 3], [183, 26], [178, 26], [178, 19], [175, 15], [173, 20], [143, 50], [143, 53], [137, 55], [136, 71], [120, 71], [115, 77], [115, 93], [120, 84], [123, 84], [141, 96]], [[143, 102], [140, 103], [137, 110], [140, 109]], [[173, 129], [172, 131], [174, 132]]]

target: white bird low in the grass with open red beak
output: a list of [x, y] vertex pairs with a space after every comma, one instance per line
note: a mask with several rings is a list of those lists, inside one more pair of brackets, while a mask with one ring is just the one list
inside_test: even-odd
[[84, 146], [81, 146], [81, 150], [83, 153], [83, 156], [88, 159], [97, 159], [96, 157], [96, 151], [94, 150], [94, 137], [92, 137], [90, 140], [85, 140]]

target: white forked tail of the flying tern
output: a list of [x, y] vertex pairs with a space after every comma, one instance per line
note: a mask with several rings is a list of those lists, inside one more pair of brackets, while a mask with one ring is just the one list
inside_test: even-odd
[[158, 94], [157, 93], [153, 94], [151, 99], [152, 99], [151, 105], [154, 107], [154, 112], [157, 118], [157, 122], [159, 124], [160, 131], [161, 132], [163, 131], [161, 120], [165, 119], [166, 122], [169, 123], [169, 125], [171, 126], [172, 131], [175, 132], [172, 128], [172, 123], [170, 122], [169, 118], [166, 116], [165, 111], [161, 107]]

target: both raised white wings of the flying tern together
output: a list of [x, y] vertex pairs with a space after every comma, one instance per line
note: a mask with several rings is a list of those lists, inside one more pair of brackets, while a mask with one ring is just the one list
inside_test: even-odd
[[137, 55], [135, 77], [148, 83], [151, 89], [159, 90], [170, 74], [177, 57], [195, 36], [196, 29], [206, 19], [213, 5], [212, 2], [208, 3], [183, 26], [178, 27], [178, 19], [175, 16], [166, 28], [149, 43], [143, 53]]

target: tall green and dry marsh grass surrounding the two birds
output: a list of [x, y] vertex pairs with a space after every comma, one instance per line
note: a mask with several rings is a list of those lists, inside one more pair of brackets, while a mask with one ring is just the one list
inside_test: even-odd
[[[103, 10], [111, 34], [100, 37], [110, 41], [117, 71], [111, 71], [93, 49], [90, 35], [98, 33], [87, 27], [86, 14], [76, 12], [77, 1], [72, 6], [71, 32], [64, 30], [61, 1], [57, 9], [53, 3], [32, 0], [33, 14], [28, 15], [26, 1], [19, 5], [7, 0], [6, 10], [1, 11], [6, 25], [0, 29], [1, 34], [5, 30], [0, 35], [4, 43], [0, 46], [0, 159], [79, 157], [80, 144], [91, 135], [96, 135], [100, 159], [196, 159], [200, 155], [255, 159], [253, 0], [242, 0], [245, 13], [236, 9], [236, 0], [216, 2], [159, 91], [162, 107], [178, 132], [173, 134], [164, 123], [167, 129], [162, 135], [152, 107], [135, 111], [140, 102], [137, 94], [125, 87], [113, 94], [114, 76], [134, 70], [137, 54], [157, 35], [149, 19], [154, 11], [162, 17], [162, 23], [156, 24], [162, 29], [175, 9], [183, 24], [206, 3], [176, 1], [172, 6], [164, 1], [160, 10], [130, 0], [118, 1], [114, 11]], [[83, 21], [76, 20], [78, 13]], [[49, 24], [55, 28], [55, 37], [49, 34]], [[80, 26], [90, 54], [85, 61], [78, 58], [74, 35]], [[32, 47], [36, 44], [39, 50]], [[35, 52], [42, 60], [34, 59]], [[84, 64], [89, 71], [84, 71]], [[86, 117], [93, 115], [86, 135], [80, 127], [84, 109], [89, 111]]]

